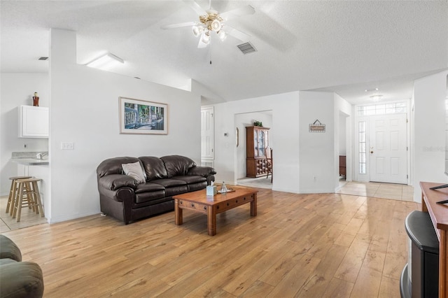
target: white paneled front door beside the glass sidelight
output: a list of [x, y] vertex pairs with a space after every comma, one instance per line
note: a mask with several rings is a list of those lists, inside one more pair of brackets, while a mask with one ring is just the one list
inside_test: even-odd
[[370, 181], [407, 184], [406, 114], [370, 116]]

